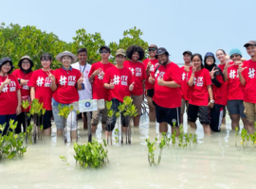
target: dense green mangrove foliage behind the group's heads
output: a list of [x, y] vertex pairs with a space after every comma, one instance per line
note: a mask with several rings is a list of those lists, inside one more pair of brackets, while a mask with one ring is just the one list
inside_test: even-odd
[[[123, 32], [123, 38], [119, 43], [109, 43], [111, 48], [112, 62], [115, 61], [115, 53], [118, 48], [127, 49], [131, 44], [140, 45], [143, 49], [147, 49], [148, 43], [141, 39], [142, 31], [137, 27], [130, 28]], [[66, 43], [61, 41], [57, 35], [46, 33], [35, 26], [19, 26], [10, 24], [6, 26], [4, 23], [0, 25], [0, 59], [10, 57], [17, 68], [18, 61], [25, 55], [31, 57], [35, 63], [34, 69], [41, 67], [40, 57], [43, 53], [48, 52], [53, 57], [52, 68], [61, 66], [60, 62], [55, 60], [55, 57], [64, 50], [74, 54], [81, 47], [86, 47], [88, 50], [87, 61], [91, 64], [101, 60], [99, 48], [104, 45], [105, 41], [101, 39], [101, 33], [87, 33], [81, 28], [76, 31], [76, 36], [73, 37], [73, 42]]]

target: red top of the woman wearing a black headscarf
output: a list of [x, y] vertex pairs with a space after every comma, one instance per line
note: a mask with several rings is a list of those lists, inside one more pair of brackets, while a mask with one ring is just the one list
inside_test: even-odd
[[215, 104], [227, 105], [227, 88], [223, 77], [218, 75], [216, 79], [221, 83], [221, 87], [218, 88], [216, 85], [212, 83], [212, 93]]

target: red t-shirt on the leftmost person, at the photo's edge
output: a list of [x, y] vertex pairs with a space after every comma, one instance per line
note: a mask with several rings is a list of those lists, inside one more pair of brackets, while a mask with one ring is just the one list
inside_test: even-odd
[[[7, 84], [0, 93], [0, 115], [15, 114], [18, 106], [17, 90], [21, 87], [18, 79], [13, 75], [8, 75], [10, 83]], [[7, 77], [0, 77], [0, 85]]]

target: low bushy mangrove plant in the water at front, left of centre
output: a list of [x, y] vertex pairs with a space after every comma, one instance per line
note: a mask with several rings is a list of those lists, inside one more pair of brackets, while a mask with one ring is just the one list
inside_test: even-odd
[[85, 145], [74, 144], [76, 163], [79, 163], [82, 168], [93, 167], [101, 168], [108, 161], [108, 150], [106, 149], [106, 141], [103, 140], [103, 145], [96, 140], [92, 140], [92, 143]]

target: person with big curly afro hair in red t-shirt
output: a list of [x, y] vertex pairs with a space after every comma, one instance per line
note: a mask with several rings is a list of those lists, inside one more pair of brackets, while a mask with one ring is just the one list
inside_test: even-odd
[[138, 127], [139, 117], [141, 115], [141, 103], [144, 98], [144, 82], [147, 78], [145, 66], [139, 60], [144, 58], [144, 50], [137, 45], [131, 45], [126, 51], [126, 57], [129, 60], [123, 62], [123, 66], [129, 68], [132, 71], [135, 89], [131, 92], [133, 103], [137, 108], [137, 116], [134, 117], [134, 126]]

